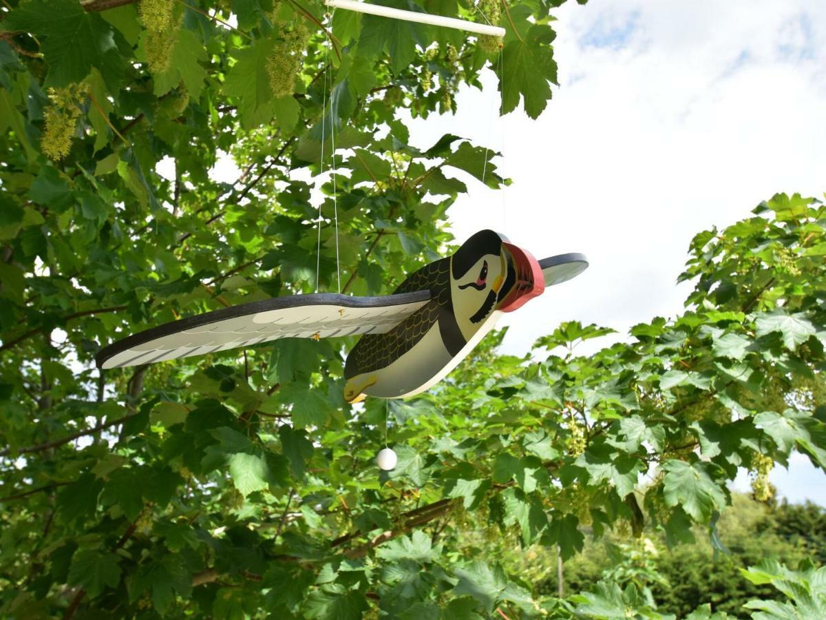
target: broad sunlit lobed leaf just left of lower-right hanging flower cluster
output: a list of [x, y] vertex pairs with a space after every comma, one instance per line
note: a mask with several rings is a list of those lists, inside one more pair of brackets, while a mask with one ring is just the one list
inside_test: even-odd
[[708, 473], [705, 463], [667, 460], [662, 469], [663, 494], [669, 506], [681, 506], [696, 522], [708, 522], [714, 510], [726, 505], [726, 494]]

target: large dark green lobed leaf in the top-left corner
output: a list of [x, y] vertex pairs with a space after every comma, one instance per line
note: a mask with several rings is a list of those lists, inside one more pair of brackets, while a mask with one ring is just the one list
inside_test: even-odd
[[43, 37], [49, 86], [81, 82], [95, 68], [113, 88], [121, 83], [124, 65], [119, 45], [123, 37], [98, 12], [87, 12], [73, 0], [26, 0], [7, 14], [6, 31], [25, 31]]

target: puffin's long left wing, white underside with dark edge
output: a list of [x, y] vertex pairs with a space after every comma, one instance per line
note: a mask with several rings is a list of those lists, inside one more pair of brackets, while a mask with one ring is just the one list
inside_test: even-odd
[[430, 300], [430, 291], [381, 297], [292, 295], [221, 308], [153, 327], [97, 354], [99, 368], [121, 368], [257, 345], [276, 338], [329, 338], [390, 331]]

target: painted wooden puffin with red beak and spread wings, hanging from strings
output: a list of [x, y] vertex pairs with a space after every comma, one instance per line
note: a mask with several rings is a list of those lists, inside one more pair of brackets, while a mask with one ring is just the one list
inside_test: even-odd
[[362, 337], [344, 366], [344, 398], [405, 398], [429, 389], [496, 325], [546, 286], [581, 274], [582, 254], [536, 260], [494, 231], [425, 265], [391, 295], [292, 295], [243, 303], [127, 336], [97, 355], [123, 368], [204, 355], [277, 338]]

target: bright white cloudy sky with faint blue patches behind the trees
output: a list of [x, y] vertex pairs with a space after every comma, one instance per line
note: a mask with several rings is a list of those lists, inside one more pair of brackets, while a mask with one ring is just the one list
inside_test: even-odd
[[[826, 191], [826, 2], [591, 0], [554, 15], [559, 87], [538, 120], [497, 118], [488, 76], [483, 92], [458, 93], [456, 116], [410, 121], [415, 145], [450, 132], [503, 154], [503, 192], [457, 174], [470, 188], [449, 211], [458, 241], [491, 227], [537, 257], [591, 260], [510, 315], [515, 354], [562, 321], [619, 339], [674, 316], [695, 233], [777, 192]], [[770, 480], [791, 502], [826, 505], [826, 475], [804, 455]], [[748, 488], [741, 470], [733, 489]]]

